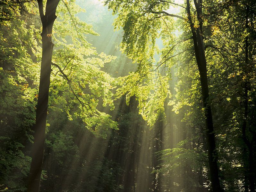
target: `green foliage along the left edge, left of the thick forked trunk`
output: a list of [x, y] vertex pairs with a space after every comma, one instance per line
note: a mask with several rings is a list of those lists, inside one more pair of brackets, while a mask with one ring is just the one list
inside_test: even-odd
[[31, 158], [24, 153], [24, 147], [33, 139], [31, 129], [38, 93], [38, 29], [25, 19], [19, 15], [4, 21], [0, 31], [0, 190], [8, 191], [26, 190], [24, 178]]

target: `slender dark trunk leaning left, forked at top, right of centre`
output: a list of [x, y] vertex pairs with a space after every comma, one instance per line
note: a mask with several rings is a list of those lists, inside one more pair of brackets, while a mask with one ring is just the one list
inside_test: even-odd
[[205, 113], [205, 127], [206, 127], [206, 140], [207, 140], [207, 147], [208, 147], [210, 181], [211, 181], [212, 190], [214, 192], [222, 192], [223, 190], [219, 182], [218, 164], [217, 164], [218, 154], [216, 152], [212, 112], [211, 112], [211, 106], [209, 104], [209, 88], [208, 88], [207, 68], [206, 68], [207, 62], [206, 62], [206, 57], [204, 52], [204, 44], [203, 44], [202, 28], [201, 28], [202, 27], [202, 21], [201, 21], [202, 5], [201, 5], [201, 0], [199, 0], [198, 2], [194, 0], [194, 4], [197, 11], [197, 18], [200, 24], [199, 27], [195, 29], [194, 24], [192, 22], [192, 18], [191, 18], [189, 0], [186, 0], [186, 3], [187, 3], [188, 20], [190, 22], [190, 27], [192, 31], [195, 57], [196, 57], [197, 66], [200, 73], [202, 102], [203, 102], [204, 113]]

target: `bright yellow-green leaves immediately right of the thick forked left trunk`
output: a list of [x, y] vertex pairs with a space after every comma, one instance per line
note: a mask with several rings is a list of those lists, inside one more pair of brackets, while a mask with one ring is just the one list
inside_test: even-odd
[[66, 102], [65, 106], [71, 106], [68, 109], [60, 106], [66, 108], [64, 111], [69, 120], [81, 119], [85, 128], [105, 138], [104, 130], [116, 129], [117, 126], [111, 116], [98, 110], [99, 103], [103, 107], [114, 108], [114, 78], [101, 68], [115, 60], [115, 57], [103, 52], [97, 54], [95, 48], [86, 41], [85, 34], [97, 34], [92, 26], [75, 16], [81, 11], [84, 10], [73, 1], [63, 1], [58, 6], [59, 18], [54, 25], [56, 50], [53, 52], [53, 62], [62, 71], [53, 67], [51, 89], [55, 94], [50, 100], [61, 95]]

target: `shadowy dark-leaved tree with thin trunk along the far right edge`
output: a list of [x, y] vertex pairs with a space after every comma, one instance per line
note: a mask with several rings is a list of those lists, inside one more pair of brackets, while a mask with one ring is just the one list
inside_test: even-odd
[[[225, 1], [210, 11], [220, 29], [219, 35], [214, 37], [215, 45], [210, 47], [218, 52], [224, 60], [223, 62], [227, 66], [226, 72], [230, 73], [227, 77], [229, 81], [226, 84], [233, 86], [232, 89], [228, 89], [227, 98], [231, 99], [231, 103], [227, 105], [233, 108], [234, 113], [231, 115], [233, 119], [239, 121], [241, 138], [236, 139], [236, 142], [243, 148], [241, 153], [243, 153], [245, 191], [248, 191], [249, 188], [250, 191], [255, 190], [255, 173], [253, 173], [255, 168], [253, 168], [254, 163], [252, 163], [254, 162], [252, 154], [255, 153], [252, 149], [253, 137], [255, 137], [252, 125], [254, 122], [252, 120], [252, 116], [254, 116], [252, 108], [253, 100], [255, 100], [255, 90], [252, 89], [255, 73], [253, 67], [255, 65], [255, 52], [253, 51], [255, 49], [254, 6], [255, 2], [253, 1]], [[216, 10], [224, 10], [225, 13], [221, 14]]]

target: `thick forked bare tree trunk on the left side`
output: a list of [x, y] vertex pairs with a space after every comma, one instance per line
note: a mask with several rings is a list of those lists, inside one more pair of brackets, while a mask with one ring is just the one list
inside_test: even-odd
[[43, 1], [38, 0], [40, 18], [42, 21], [42, 60], [38, 103], [36, 110], [36, 124], [34, 125], [34, 144], [31, 150], [31, 167], [28, 178], [28, 192], [37, 192], [40, 187], [40, 177], [44, 157], [45, 128], [48, 108], [51, 64], [52, 64], [52, 28], [56, 19], [56, 8], [59, 0], [47, 0], [44, 14]]

